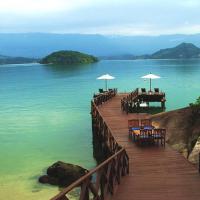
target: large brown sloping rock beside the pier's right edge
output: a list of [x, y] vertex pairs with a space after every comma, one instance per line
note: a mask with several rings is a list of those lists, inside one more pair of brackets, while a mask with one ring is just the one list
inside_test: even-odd
[[200, 152], [200, 114], [192, 107], [163, 112], [152, 116], [155, 127], [167, 130], [166, 142], [191, 163], [198, 163]]

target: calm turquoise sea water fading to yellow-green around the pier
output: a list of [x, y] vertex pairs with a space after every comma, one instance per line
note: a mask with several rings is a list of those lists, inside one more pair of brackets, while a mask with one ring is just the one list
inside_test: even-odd
[[200, 60], [101, 61], [67, 69], [39, 64], [0, 66], [0, 199], [44, 200], [57, 187], [37, 183], [57, 160], [95, 166], [90, 99], [110, 73], [110, 87], [125, 92], [149, 87], [140, 77], [155, 73], [153, 87], [166, 92], [167, 110], [200, 96]]

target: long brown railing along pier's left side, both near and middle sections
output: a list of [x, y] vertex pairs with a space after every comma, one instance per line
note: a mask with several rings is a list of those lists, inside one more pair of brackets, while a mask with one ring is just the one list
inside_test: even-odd
[[80, 187], [80, 200], [107, 199], [115, 193], [121, 178], [129, 173], [129, 158], [125, 149], [116, 142], [95, 101], [91, 106], [93, 134], [101, 143], [100, 151], [108, 158], [51, 200], [69, 200], [67, 194], [76, 187]]

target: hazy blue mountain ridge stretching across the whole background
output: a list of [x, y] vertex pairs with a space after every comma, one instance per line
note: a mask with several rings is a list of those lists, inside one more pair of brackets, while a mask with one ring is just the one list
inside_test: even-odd
[[161, 36], [107, 36], [100, 34], [0, 33], [0, 54], [42, 58], [68, 49], [97, 57], [153, 54], [182, 42], [200, 46], [200, 34]]

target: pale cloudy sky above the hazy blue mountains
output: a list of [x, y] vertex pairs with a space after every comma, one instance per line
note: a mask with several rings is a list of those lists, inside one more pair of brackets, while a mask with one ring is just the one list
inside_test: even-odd
[[200, 33], [200, 0], [0, 0], [1, 33]]

